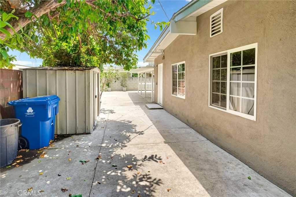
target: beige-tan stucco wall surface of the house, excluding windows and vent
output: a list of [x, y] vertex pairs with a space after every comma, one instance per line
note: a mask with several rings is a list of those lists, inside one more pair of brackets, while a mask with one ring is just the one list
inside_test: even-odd
[[[223, 33], [210, 15], [223, 7]], [[197, 17], [163, 63], [163, 107], [259, 174], [296, 195], [296, 1], [226, 1]], [[256, 121], [208, 107], [209, 55], [258, 43]], [[186, 99], [171, 96], [171, 64], [186, 61]], [[156, 71], [156, 70], [155, 70]], [[157, 75], [157, 72], [155, 72]], [[155, 85], [157, 102], [157, 85]]]

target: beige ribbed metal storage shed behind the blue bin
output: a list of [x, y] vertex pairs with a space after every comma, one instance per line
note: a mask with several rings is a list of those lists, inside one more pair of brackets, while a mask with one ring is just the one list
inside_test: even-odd
[[98, 67], [23, 69], [23, 96], [57, 95], [56, 134], [91, 133], [100, 109]]

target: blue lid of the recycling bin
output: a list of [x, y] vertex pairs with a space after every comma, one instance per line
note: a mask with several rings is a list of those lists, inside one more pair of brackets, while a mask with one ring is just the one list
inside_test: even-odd
[[9, 105], [49, 105], [55, 102], [59, 102], [60, 98], [56, 95], [46, 95], [32, 98], [23, 98], [19, 100], [9, 101]]

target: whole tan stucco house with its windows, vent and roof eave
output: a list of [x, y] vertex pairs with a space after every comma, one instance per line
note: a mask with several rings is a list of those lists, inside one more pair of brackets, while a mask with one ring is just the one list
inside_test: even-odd
[[296, 1], [193, 0], [144, 62], [155, 102], [296, 196]]

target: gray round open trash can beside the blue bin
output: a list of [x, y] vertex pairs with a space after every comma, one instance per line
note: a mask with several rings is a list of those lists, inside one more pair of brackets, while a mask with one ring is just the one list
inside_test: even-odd
[[0, 167], [7, 166], [17, 158], [19, 119], [0, 120]]

